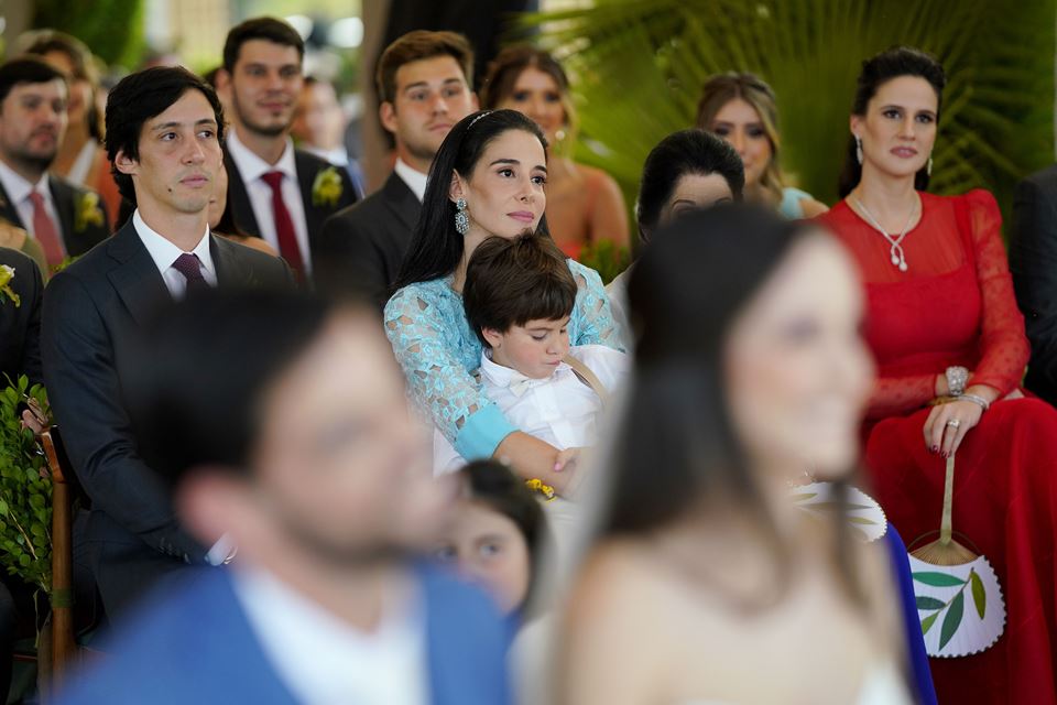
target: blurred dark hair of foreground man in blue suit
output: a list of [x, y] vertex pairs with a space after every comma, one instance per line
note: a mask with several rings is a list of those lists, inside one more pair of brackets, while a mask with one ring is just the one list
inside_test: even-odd
[[304, 294], [232, 290], [162, 311], [121, 370], [151, 467], [173, 486], [196, 466], [247, 470], [264, 395], [334, 313], [333, 304]]

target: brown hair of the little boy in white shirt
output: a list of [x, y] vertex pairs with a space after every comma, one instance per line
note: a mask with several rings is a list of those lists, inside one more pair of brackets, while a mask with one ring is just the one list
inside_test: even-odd
[[558, 246], [541, 234], [481, 242], [466, 268], [462, 305], [484, 345], [481, 330], [510, 330], [530, 321], [558, 321], [573, 313], [576, 280]]

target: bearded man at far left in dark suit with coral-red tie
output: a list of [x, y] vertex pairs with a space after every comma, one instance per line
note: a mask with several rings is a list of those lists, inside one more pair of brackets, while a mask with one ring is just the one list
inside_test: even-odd
[[99, 195], [48, 174], [66, 133], [66, 78], [35, 58], [0, 66], [0, 217], [44, 249], [48, 267], [110, 235]]

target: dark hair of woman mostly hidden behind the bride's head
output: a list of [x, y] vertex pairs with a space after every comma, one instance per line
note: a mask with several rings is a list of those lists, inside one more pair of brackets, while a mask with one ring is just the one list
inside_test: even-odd
[[672, 198], [679, 180], [688, 174], [719, 174], [734, 200], [741, 200], [745, 169], [730, 144], [711, 132], [690, 128], [664, 138], [650, 151], [642, 166], [635, 219], [639, 241], [647, 242], [661, 220], [661, 210]]

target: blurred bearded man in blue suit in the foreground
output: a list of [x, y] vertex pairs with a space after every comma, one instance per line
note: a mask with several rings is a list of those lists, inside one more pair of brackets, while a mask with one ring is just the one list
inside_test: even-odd
[[506, 628], [478, 590], [408, 557], [457, 496], [377, 314], [209, 292], [142, 336], [130, 405], [221, 570], [156, 593], [66, 705], [504, 705]]

